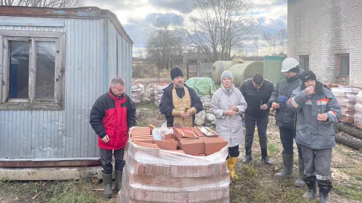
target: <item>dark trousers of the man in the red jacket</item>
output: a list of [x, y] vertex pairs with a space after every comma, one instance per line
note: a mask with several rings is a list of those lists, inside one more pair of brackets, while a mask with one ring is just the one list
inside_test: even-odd
[[112, 154], [114, 156], [114, 169], [123, 170], [124, 167], [124, 147], [118, 150], [112, 149], [102, 149], [99, 148], [101, 162], [102, 162], [102, 172], [105, 174], [111, 174], [113, 170], [112, 166]]

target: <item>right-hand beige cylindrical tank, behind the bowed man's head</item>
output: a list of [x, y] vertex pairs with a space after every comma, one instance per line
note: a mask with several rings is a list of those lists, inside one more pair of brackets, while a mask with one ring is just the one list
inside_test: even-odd
[[[229, 71], [234, 78], [234, 85], [239, 88], [243, 81], [252, 78], [255, 74], [263, 75], [263, 61], [245, 61], [244, 63], [236, 63], [231, 65]], [[220, 79], [219, 79], [220, 80]]]

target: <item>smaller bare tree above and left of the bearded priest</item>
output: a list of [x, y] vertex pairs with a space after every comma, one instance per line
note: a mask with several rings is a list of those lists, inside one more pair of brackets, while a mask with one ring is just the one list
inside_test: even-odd
[[181, 37], [170, 23], [157, 19], [145, 32], [148, 58], [156, 59], [159, 67], [169, 68], [171, 55], [181, 54]]

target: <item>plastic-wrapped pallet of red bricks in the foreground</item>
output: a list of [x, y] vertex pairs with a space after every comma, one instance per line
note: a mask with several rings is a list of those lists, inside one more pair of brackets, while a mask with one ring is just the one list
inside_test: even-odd
[[[192, 136], [182, 136], [183, 130]], [[116, 202], [229, 203], [227, 150], [224, 139], [199, 128], [175, 128], [153, 141], [150, 127], [133, 127]]]

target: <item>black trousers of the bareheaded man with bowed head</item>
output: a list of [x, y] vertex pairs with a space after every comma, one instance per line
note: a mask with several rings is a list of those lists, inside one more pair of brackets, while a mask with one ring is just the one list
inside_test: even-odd
[[247, 134], [245, 135], [245, 147], [251, 147], [252, 145], [256, 123], [256, 126], [258, 127], [260, 148], [267, 148], [267, 127], [269, 122], [269, 115], [266, 114], [263, 117], [257, 118], [245, 113], [244, 116], [245, 129], [247, 130]]

